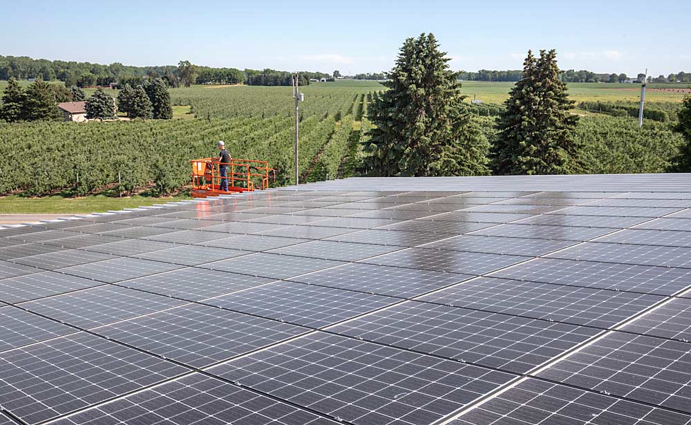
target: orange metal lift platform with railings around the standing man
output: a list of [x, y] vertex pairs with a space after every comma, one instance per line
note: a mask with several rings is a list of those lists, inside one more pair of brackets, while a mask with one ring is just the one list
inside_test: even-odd
[[[269, 167], [266, 161], [236, 160], [230, 162], [218, 162], [218, 158], [202, 158], [191, 160], [192, 164], [192, 189], [193, 198], [207, 198], [207, 196], [229, 195], [254, 191], [258, 186], [261, 189], [269, 187], [269, 176], [276, 180], [276, 171]], [[227, 165], [226, 177], [220, 176], [220, 166]], [[220, 182], [228, 181], [228, 191], [220, 190]]]

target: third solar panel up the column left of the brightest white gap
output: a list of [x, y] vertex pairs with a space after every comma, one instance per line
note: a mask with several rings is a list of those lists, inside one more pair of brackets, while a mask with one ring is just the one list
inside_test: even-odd
[[455, 307], [609, 328], [663, 297], [500, 278], [477, 278], [420, 298]]

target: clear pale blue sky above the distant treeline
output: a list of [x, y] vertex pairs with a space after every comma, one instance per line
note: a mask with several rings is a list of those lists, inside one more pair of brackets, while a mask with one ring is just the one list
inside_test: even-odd
[[682, 0], [12, 1], [2, 11], [0, 55], [361, 73], [390, 69], [406, 37], [433, 32], [455, 70], [517, 69], [528, 49], [556, 48], [562, 69], [691, 72]]

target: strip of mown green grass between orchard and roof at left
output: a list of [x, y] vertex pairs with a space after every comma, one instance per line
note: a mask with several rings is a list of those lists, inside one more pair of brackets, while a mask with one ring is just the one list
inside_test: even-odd
[[102, 195], [85, 196], [83, 198], [65, 198], [63, 196], [26, 198], [10, 195], [0, 197], [0, 214], [84, 214], [105, 212], [111, 209], [144, 207], [185, 199], [191, 198], [189, 196], [153, 198], [140, 195], [126, 198], [111, 198]]

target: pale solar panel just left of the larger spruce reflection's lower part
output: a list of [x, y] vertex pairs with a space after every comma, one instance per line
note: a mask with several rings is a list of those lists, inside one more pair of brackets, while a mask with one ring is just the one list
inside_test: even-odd
[[357, 261], [396, 251], [401, 247], [372, 245], [368, 243], [337, 242], [333, 240], [314, 240], [312, 242], [272, 249], [269, 253], [324, 258], [326, 260]]

